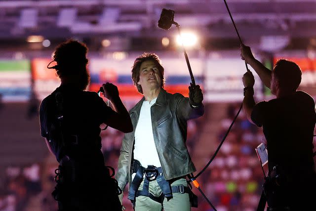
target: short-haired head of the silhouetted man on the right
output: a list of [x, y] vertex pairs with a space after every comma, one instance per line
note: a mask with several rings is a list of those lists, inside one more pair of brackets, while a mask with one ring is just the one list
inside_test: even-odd
[[281, 88], [296, 91], [302, 81], [301, 68], [292, 61], [280, 59], [273, 69]]

